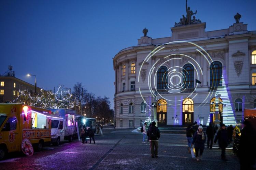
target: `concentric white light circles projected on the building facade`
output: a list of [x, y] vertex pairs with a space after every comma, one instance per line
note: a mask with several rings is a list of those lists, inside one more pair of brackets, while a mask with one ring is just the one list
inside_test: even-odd
[[[197, 44], [191, 43], [191, 42], [187, 42], [187, 41], [172, 41], [172, 42], [164, 44], [162, 46], [158, 46], [157, 48], [155, 48], [152, 52], [150, 52], [146, 56], [146, 58], [144, 59], [144, 61], [142, 62], [142, 65], [140, 67], [138, 82], [140, 82], [140, 72], [141, 72], [142, 67], [144, 66], [144, 63], [148, 62], [148, 60], [150, 60], [150, 58], [152, 56], [154, 56], [155, 54], [157, 54], [159, 51], [165, 49], [166, 45], [176, 44], [176, 43], [188, 43], [190, 45], [193, 45], [195, 47], [195, 51], [199, 52], [202, 55], [202, 57], [204, 57], [204, 60], [207, 60], [207, 63], [209, 64], [209, 66], [213, 62], [212, 58], [210, 57], [210, 55], [202, 47], [198, 46]], [[167, 65], [169, 65], [167, 63], [169, 63], [171, 60], [174, 61], [173, 63], [176, 63], [175, 60], [181, 60], [181, 57], [177, 57], [177, 56], [182, 56], [182, 57], [188, 57], [189, 58], [188, 63], [191, 64], [194, 67], [194, 70], [195, 70], [195, 74], [194, 74], [195, 79], [200, 81], [200, 75], [203, 75], [203, 72], [202, 72], [202, 69], [201, 69], [202, 66], [200, 66], [199, 63], [194, 58], [192, 58], [192, 57], [190, 57], [190, 56], [188, 56], [186, 54], [181, 54], [181, 53], [175, 53], [175, 54], [167, 55], [167, 56], [163, 57], [165, 59], [164, 62], [161, 63], [160, 59], [155, 61], [155, 63], [153, 63], [152, 67], [149, 69], [149, 73], [147, 74], [147, 77], [148, 77], [148, 82], [147, 82], [148, 83], [148, 88], [150, 89], [151, 95], [153, 97], [154, 97], [154, 94], [155, 94], [155, 90], [154, 89], [157, 89], [156, 83], [157, 83], [157, 73], [158, 73], [159, 68], [161, 66], [167, 67]], [[173, 58], [169, 58], [169, 57], [173, 57]], [[179, 63], [179, 62], [177, 62], [177, 63]], [[197, 68], [199, 68], [199, 70]], [[154, 71], [155, 71], [155, 74], [153, 74]], [[195, 91], [197, 89], [198, 83], [196, 83], [196, 86], [194, 87], [194, 89], [192, 89], [193, 91], [191, 91], [190, 93], [186, 93], [186, 94], [184, 93], [184, 95], [180, 99], [175, 99], [175, 100], [172, 99], [172, 100], [170, 100], [170, 99], [167, 99], [166, 97], [162, 96], [159, 93], [159, 91], [163, 92], [162, 90], [164, 90], [164, 92], [166, 92], [166, 93], [168, 93], [168, 94], [170, 94], [172, 96], [174, 95], [174, 97], [172, 97], [172, 98], [175, 98], [175, 94], [180, 94], [181, 92], [184, 92], [185, 90], [186, 90], [186, 92], [189, 91], [187, 89], [190, 86], [190, 82], [187, 82], [188, 78], [186, 77], [186, 74], [187, 75], [189, 74], [188, 71], [186, 69], [180, 67], [180, 66], [175, 66], [174, 65], [174, 66], [171, 66], [170, 68], [167, 68], [166, 72], [163, 73], [162, 80], [161, 80], [161, 82], [165, 82], [165, 84], [163, 86], [163, 89], [156, 90], [158, 99], [161, 98], [161, 99], [164, 99], [166, 101], [169, 101], [170, 103], [167, 103], [169, 105], [174, 105], [174, 103], [175, 103], [175, 105], [179, 105], [179, 103], [181, 103], [180, 101], [183, 101], [186, 98], [191, 98], [191, 99], [195, 98], [197, 96], [197, 93]], [[152, 78], [154, 78], [154, 81], [153, 81], [154, 84], [153, 85], [151, 83], [152, 82], [152, 80], [151, 80]], [[164, 78], [165, 78], [165, 80], [164, 80]], [[177, 81], [175, 81], [175, 80], [177, 80]], [[169, 82], [169, 84], [168, 84], [168, 82]], [[140, 88], [139, 88], [139, 91], [140, 91], [140, 95], [141, 95], [143, 101], [148, 106], [150, 106], [145, 101], [145, 99], [143, 98]], [[213, 91], [210, 90], [208, 92], [208, 95], [205, 97], [205, 99], [201, 102], [200, 105], [205, 103], [205, 101], [208, 99], [208, 97], [212, 96], [212, 93], [213, 93]]]

